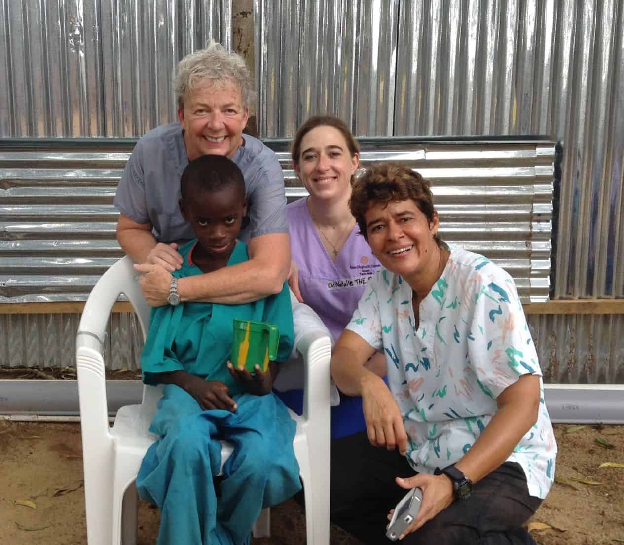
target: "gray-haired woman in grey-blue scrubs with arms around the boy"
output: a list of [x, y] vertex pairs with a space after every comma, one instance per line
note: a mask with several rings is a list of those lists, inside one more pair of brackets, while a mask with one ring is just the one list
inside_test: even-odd
[[[243, 134], [253, 100], [245, 61], [210, 42], [180, 61], [175, 93], [179, 122], [139, 139], [115, 196], [117, 238], [144, 273], [145, 298], [152, 306], [235, 304], [280, 292], [290, 266], [284, 177], [275, 153]], [[243, 172], [248, 216], [240, 238], [250, 259], [178, 281], [170, 274], [182, 265], [178, 244], [194, 236], [178, 206], [180, 176], [189, 161], [210, 154], [225, 155]], [[213, 243], [218, 251], [222, 241]]]

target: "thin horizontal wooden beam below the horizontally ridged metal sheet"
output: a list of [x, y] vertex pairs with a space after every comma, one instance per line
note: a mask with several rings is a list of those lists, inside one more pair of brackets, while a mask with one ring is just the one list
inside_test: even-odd
[[[0, 314], [81, 314], [84, 302], [2, 303]], [[113, 312], [134, 312], [117, 302]], [[524, 305], [525, 314], [624, 314], [624, 299], [559, 299]]]

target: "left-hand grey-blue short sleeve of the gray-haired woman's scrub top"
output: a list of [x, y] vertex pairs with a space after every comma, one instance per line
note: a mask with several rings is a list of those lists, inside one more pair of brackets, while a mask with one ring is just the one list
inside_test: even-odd
[[139, 140], [128, 162], [125, 164], [124, 173], [117, 186], [114, 202], [117, 210], [122, 214], [128, 216], [132, 221], [145, 224], [150, 223], [150, 216], [145, 196], [143, 165], [144, 145], [142, 140]]

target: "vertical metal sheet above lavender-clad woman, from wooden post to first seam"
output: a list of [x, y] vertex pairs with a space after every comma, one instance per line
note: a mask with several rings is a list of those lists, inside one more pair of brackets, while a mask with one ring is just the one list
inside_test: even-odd
[[399, 0], [255, 0], [259, 131], [291, 136], [314, 113], [392, 135]]

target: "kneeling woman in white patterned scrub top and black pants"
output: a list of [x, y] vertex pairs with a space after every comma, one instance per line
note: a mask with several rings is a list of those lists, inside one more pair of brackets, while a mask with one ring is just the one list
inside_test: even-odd
[[[366, 419], [332, 443], [333, 522], [387, 543], [390, 509], [419, 487], [404, 543], [535, 543], [522, 524], [552, 485], [557, 445], [514, 281], [439, 238], [429, 182], [407, 166], [370, 168], [350, 207], [383, 269], [331, 361]], [[388, 385], [363, 365], [379, 349]]]

